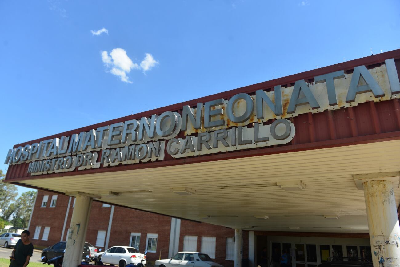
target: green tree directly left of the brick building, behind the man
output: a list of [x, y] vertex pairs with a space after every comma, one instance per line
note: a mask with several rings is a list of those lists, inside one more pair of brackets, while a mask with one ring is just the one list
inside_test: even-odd
[[[14, 218], [11, 223], [14, 227], [27, 227], [36, 191], [26, 191], [15, 201]], [[11, 205], [10, 205], [11, 206]]]

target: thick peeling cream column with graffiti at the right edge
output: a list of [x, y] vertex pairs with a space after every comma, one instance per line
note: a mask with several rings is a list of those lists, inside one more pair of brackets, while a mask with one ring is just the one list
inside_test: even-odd
[[400, 228], [393, 182], [372, 180], [362, 185], [374, 267], [400, 266]]

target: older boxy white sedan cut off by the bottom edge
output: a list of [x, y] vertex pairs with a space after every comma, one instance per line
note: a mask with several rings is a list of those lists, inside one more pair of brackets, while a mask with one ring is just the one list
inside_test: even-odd
[[155, 267], [223, 267], [204, 253], [182, 251], [171, 259], [156, 261]]

